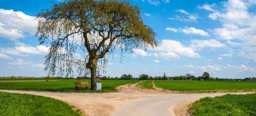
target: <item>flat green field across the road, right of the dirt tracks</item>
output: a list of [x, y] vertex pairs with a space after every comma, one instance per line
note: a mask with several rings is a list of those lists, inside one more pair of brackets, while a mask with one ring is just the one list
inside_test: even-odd
[[256, 91], [256, 82], [250, 81], [154, 81], [156, 87], [182, 92], [236, 92]]

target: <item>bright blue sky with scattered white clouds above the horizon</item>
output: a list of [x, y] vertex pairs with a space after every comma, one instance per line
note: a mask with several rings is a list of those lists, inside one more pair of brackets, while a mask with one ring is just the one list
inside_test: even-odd
[[[35, 35], [33, 16], [50, 1], [3, 1], [0, 4], [0, 76], [47, 76], [47, 45]], [[55, 1], [58, 2], [58, 1]], [[108, 58], [106, 74], [149, 76], [255, 77], [256, 15], [253, 0], [138, 0], [146, 25], [158, 34], [158, 49], [135, 50]], [[117, 50], [118, 51], [118, 50]], [[81, 55], [78, 53], [77, 55]], [[76, 75], [76, 73], [75, 73]]]

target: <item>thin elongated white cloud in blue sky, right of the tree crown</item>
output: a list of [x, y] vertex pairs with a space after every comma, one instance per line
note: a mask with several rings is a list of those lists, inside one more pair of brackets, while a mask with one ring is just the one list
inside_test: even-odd
[[175, 28], [168, 27], [168, 28], [166, 28], [166, 30], [174, 31], [174, 32], [184, 32], [185, 34], [196, 34], [196, 35], [202, 35], [202, 36], [209, 36], [208, 32], [204, 32], [203, 30], [196, 29], [194, 27], [188, 28], [187, 26], [185, 26], [184, 29], [182, 29], [182, 28], [175, 29]]

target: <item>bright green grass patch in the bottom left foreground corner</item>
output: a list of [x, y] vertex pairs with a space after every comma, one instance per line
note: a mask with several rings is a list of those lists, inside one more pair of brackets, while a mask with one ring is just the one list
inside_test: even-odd
[[0, 92], [1, 116], [82, 116], [73, 107], [53, 98]]

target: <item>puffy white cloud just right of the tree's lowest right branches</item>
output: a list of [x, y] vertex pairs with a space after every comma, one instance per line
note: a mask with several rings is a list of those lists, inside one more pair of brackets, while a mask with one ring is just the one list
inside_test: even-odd
[[157, 50], [162, 50], [162, 51], [167, 51], [167, 52], [175, 52], [175, 53], [179, 53], [179, 55], [192, 57], [192, 58], [200, 58], [201, 57], [199, 54], [194, 53], [192, 48], [185, 47], [180, 42], [174, 41], [174, 40], [162, 40], [162, 43], [161, 43], [161, 45], [159, 45]]

